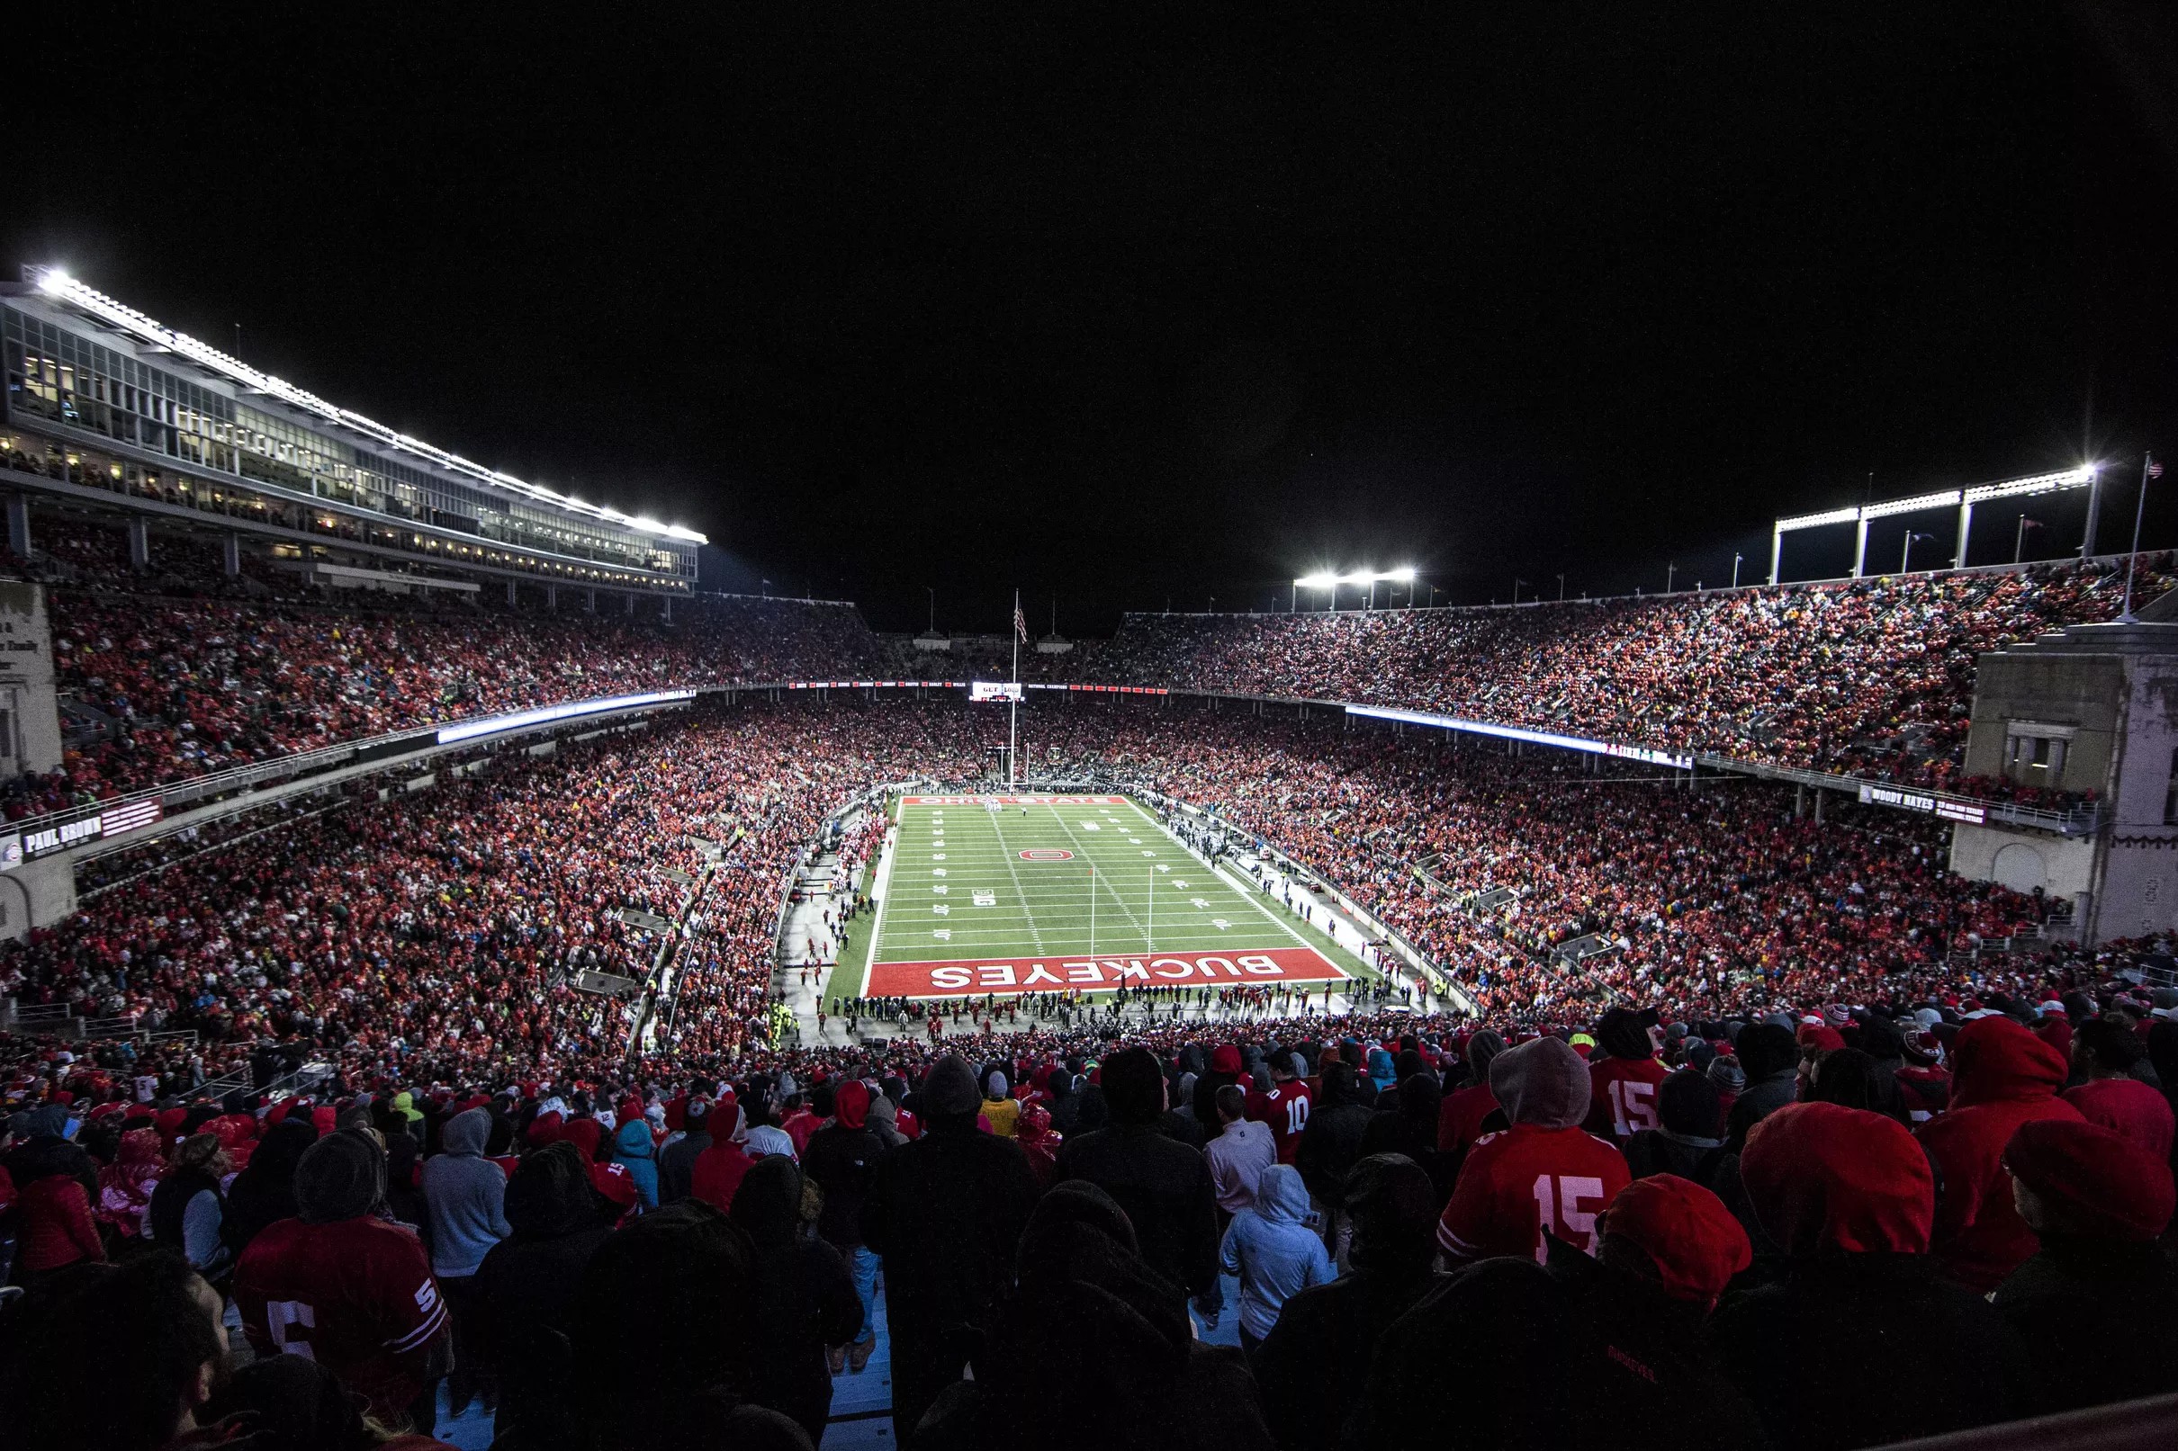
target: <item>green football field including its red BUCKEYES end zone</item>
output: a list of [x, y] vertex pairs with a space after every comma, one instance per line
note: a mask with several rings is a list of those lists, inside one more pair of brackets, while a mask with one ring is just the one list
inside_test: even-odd
[[1126, 796], [904, 796], [862, 992], [1320, 988], [1357, 975]]

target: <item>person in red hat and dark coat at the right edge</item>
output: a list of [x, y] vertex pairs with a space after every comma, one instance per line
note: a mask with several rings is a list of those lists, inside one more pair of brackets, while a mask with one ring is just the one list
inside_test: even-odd
[[2117, 1129], [2036, 1118], [2004, 1168], [2041, 1251], [1989, 1303], [2034, 1360], [2034, 1410], [2178, 1390], [2178, 1268], [2156, 1249], [2178, 1203], [2169, 1164]]

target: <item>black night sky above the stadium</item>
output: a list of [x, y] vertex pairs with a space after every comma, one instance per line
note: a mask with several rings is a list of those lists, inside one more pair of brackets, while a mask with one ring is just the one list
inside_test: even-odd
[[2113, 548], [2178, 457], [2148, 4], [1017, 9], [72, 7], [13, 48], [0, 265], [893, 629], [1718, 583], [1871, 472], [2087, 455]]

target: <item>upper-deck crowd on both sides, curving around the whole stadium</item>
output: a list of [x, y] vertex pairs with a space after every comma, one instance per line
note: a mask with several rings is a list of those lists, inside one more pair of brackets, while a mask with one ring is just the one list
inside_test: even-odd
[[[224, 579], [161, 540], [131, 570], [118, 531], [46, 531], [72, 746], [17, 781], [13, 816], [497, 709], [680, 685], [987, 677], [1004, 642], [952, 653], [873, 635], [847, 605], [703, 596], [671, 622], [608, 596], [590, 616], [353, 592], [329, 598], [246, 555]], [[2134, 592], [2174, 579], [2143, 559]], [[1518, 609], [1128, 616], [1111, 642], [1024, 650], [1021, 679], [1400, 705], [1673, 751], [1875, 774], [2006, 798], [2058, 798], [1965, 774], [1982, 650], [2108, 620], [2108, 561], [1714, 590]], [[531, 592], [534, 594], [534, 592]], [[577, 598], [568, 592], [568, 600]]]

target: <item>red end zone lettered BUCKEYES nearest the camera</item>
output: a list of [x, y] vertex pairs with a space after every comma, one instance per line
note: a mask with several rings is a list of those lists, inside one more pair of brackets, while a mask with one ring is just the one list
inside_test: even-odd
[[869, 968], [873, 996], [980, 999], [1021, 992], [1111, 992], [1176, 983], [1342, 983], [1346, 972], [1313, 946], [1268, 953], [1167, 953], [1157, 957], [960, 957], [952, 962], [880, 962]]

